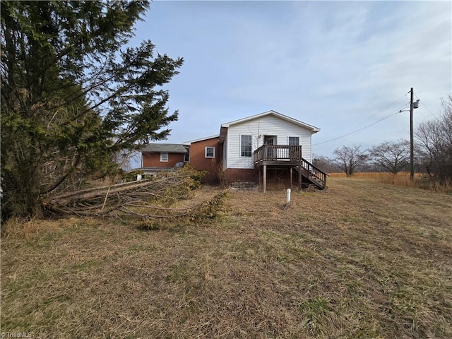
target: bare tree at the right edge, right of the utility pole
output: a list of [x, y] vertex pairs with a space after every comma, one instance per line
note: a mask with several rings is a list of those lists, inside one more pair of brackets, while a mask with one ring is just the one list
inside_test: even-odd
[[427, 173], [440, 181], [452, 178], [452, 95], [443, 100], [443, 112], [433, 120], [420, 124], [417, 143]]

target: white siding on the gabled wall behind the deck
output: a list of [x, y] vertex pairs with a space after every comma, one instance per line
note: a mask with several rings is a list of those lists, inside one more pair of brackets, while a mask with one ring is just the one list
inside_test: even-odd
[[242, 124], [232, 125], [227, 131], [223, 168], [253, 168], [253, 157], [240, 156], [240, 136], [252, 136], [252, 151], [263, 144], [263, 136], [277, 136], [278, 145], [288, 145], [290, 136], [298, 136], [302, 145], [302, 157], [311, 162], [311, 131], [273, 115]]

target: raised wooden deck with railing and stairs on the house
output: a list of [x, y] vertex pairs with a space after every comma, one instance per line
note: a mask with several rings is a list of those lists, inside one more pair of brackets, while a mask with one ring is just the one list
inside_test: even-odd
[[259, 173], [261, 173], [261, 167], [263, 169], [263, 191], [266, 191], [267, 186], [267, 166], [289, 168], [291, 184], [295, 169], [298, 174], [299, 188], [302, 186], [302, 177], [319, 189], [326, 188], [327, 174], [302, 157], [302, 146], [263, 145], [254, 151], [254, 167], [258, 167]]

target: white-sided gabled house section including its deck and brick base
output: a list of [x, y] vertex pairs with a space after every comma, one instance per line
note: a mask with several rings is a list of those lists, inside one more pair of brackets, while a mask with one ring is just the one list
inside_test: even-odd
[[222, 170], [227, 182], [269, 177], [323, 189], [326, 174], [311, 164], [312, 135], [320, 129], [275, 111], [222, 124]]

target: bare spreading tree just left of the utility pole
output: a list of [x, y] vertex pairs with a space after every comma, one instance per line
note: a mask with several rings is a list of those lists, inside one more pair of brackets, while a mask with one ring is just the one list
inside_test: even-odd
[[410, 164], [410, 141], [385, 141], [371, 148], [369, 157], [376, 165], [396, 175]]

